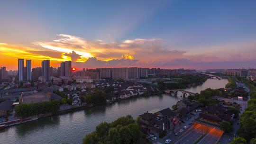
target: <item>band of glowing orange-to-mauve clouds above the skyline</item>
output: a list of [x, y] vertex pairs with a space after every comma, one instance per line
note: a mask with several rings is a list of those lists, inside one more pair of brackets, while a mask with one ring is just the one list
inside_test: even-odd
[[[241, 61], [250, 60], [256, 53], [255, 42], [205, 46], [198, 48], [201, 50], [200, 53], [195, 53], [173, 50], [171, 46], [163, 45], [162, 39], [159, 38], [136, 38], [122, 42], [104, 43], [101, 40], [89, 41], [78, 36], [64, 34], [58, 36], [58, 39], [51, 42], [37, 41], [31, 46], [0, 43], [0, 55], [16, 58], [11, 60], [13, 63], [17, 63], [17, 58], [32, 59], [36, 63], [49, 59], [54, 63], [52, 66], [59, 66], [62, 61], [72, 60], [79, 67], [157, 67], [177, 66], [176, 64], [183, 65], [188, 62], [234, 61], [238, 58]], [[244, 49], [247, 49], [248, 52], [241, 52]]]

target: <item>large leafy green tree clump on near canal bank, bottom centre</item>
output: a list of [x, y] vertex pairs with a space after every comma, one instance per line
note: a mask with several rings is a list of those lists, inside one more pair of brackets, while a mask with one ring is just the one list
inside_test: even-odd
[[82, 144], [144, 144], [144, 134], [131, 116], [120, 117], [112, 123], [101, 123], [84, 137]]

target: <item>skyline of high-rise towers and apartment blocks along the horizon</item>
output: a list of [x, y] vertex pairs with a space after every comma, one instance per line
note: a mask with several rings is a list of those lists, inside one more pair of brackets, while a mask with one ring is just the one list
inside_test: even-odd
[[150, 76], [162, 75], [170, 76], [172, 74], [195, 73], [196, 70], [186, 69], [160, 69], [160, 68], [139, 68], [139, 67], [120, 67], [120, 68], [96, 68], [75, 70], [73, 72], [72, 61], [60, 63], [60, 66], [54, 68], [50, 66], [50, 60], [44, 60], [41, 67], [31, 68], [31, 60], [18, 59], [18, 71], [6, 71], [6, 67], [0, 67], [0, 80], [7, 79], [8, 75], [18, 75], [18, 81], [40, 80], [49, 82], [51, 76], [63, 79], [74, 78], [76, 81], [90, 82], [98, 79], [128, 80], [148, 78]]

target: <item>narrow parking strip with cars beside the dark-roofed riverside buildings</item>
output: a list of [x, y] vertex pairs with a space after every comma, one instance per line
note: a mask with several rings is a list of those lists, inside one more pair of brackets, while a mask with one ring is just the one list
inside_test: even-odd
[[[187, 129], [189, 129], [191, 126], [193, 125], [189, 125], [189, 124], [192, 124], [193, 123], [193, 120], [197, 117], [199, 117], [199, 114], [201, 112], [194, 112], [196, 115], [190, 115], [188, 114], [188, 117], [191, 117], [189, 118], [188, 120], [183, 120], [183, 122], [181, 123], [181, 125], [179, 125], [179, 128], [173, 133], [172, 131], [169, 131], [167, 133], [167, 135], [165, 135], [164, 138], [159, 138], [158, 135], [156, 135], [156, 140], [153, 141], [154, 144], [165, 144], [165, 140], [167, 139], [170, 139], [171, 141], [173, 141], [175, 138], [178, 138], [180, 135], [182, 135]], [[184, 126], [187, 126], [187, 128], [184, 129]], [[183, 130], [181, 133], [179, 132], [179, 130]], [[179, 134], [178, 134], [179, 132]], [[175, 135], [175, 133], [177, 133], [178, 135]]]

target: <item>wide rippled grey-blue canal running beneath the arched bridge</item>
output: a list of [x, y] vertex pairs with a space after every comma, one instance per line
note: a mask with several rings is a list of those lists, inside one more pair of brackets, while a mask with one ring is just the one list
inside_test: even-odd
[[[197, 87], [184, 90], [200, 92], [206, 88], [223, 88], [227, 83], [227, 80], [208, 79]], [[126, 115], [136, 118], [138, 115], [155, 108], [171, 108], [181, 99], [180, 94], [177, 95], [177, 97], [173, 97], [168, 94], [161, 94], [124, 99], [112, 104], [10, 126], [0, 131], [0, 144], [81, 144], [82, 138], [93, 132], [99, 123], [111, 122]]]

